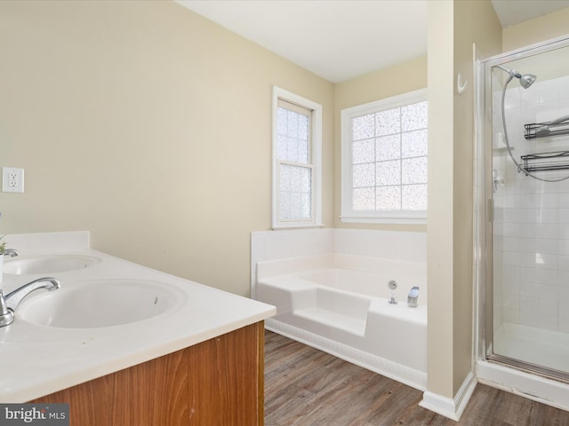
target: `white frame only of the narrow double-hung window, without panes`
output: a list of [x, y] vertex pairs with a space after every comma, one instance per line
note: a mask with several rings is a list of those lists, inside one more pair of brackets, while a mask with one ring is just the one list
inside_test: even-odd
[[[279, 168], [282, 163], [276, 158], [277, 153], [277, 110], [278, 100], [284, 100], [293, 105], [301, 106], [311, 112], [309, 163], [302, 167], [311, 166], [311, 217], [308, 219], [282, 219], [279, 212]], [[323, 226], [322, 224], [322, 105], [284, 89], [273, 86], [272, 97], [272, 176], [271, 176], [271, 228], [294, 228]]]

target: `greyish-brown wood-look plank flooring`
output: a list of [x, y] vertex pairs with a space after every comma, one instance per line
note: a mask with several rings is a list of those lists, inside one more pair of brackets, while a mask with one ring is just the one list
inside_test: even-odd
[[265, 426], [569, 426], [569, 412], [477, 384], [460, 422], [420, 390], [265, 331]]

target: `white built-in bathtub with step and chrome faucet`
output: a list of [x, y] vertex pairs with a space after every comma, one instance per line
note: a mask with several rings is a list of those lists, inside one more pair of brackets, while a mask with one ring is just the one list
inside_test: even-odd
[[[333, 253], [261, 262], [256, 270], [254, 298], [276, 306], [269, 330], [426, 390], [426, 264]], [[413, 286], [417, 307], [407, 305]], [[389, 304], [392, 292], [397, 304]]]

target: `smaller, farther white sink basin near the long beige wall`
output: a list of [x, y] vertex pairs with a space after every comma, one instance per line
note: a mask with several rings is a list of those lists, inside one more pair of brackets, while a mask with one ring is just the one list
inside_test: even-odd
[[52, 255], [25, 257], [6, 260], [4, 262], [4, 273], [12, 273], [14, 275], [31, 273], [50, 274], [75, 271], [99, 263], [100, 259], [92, 256]]

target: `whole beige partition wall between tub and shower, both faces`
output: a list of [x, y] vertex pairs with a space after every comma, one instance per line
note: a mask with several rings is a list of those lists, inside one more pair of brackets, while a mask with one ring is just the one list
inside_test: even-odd
[[429, 2], [428, 41], [428, 389], [454, 398], [472, 369], [472, 44], [499, 53], [501, 26], [489, 0]]

